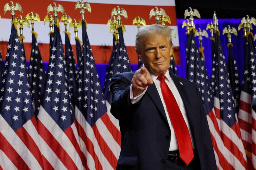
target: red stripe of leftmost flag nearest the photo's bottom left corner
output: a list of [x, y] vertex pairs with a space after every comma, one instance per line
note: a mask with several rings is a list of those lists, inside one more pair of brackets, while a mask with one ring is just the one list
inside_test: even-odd
[[26, 162], [20, 157], [19, 153], [12, 147], [12, 145], [5, 139], [5, 137], [0, 133], [0, 146], [1, 150], [10, 159], [10, 161], [19, 170], [29, 170], [30, 168]]

